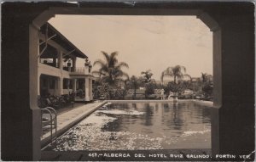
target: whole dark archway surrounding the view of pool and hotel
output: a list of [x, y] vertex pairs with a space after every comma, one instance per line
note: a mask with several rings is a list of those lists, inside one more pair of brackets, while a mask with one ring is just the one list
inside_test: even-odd
[[[37, 22], [45, 22], [47, 15], [54, 16], [52, 7], [65, 8], [66, 13], [87, 14], [114, 8], [119, 14], [179, 15], [193, 10], [205, 11], [218, 22], [221, 30], [215, 31], [213, 44], [214, 105], [212, 115], [212, 154], [251, 154], [255, 149], [255, 36], [254, 3], [252, 2], [161, 2], [161, 3], [3, 3], [2, 4], [2, 159], [40, 159], [40, 131], [36, 105], [37, 75], [35, 54], [31, 45], [37, 40]], [[68, 8], [74, 8], [68, 10]], [[118, 9], [121, 8], [121, 9]], [[60, 9], [60, 8], [59, 8]], [[110, 11], [109, 11], [110, 10]], [[183, 12], [180, 12], [183, 10]], [[56, 10], [57, 11], [57, 10]], [[55, 12], [56, 12], [55, 11]], [[105, 12], [105, 14], [106, 14]], [[201, 13], [201, 12], [200, 12]], [[85, 13], [84, 13], [85, 14]], [[191, 14], [191, 13], [190, 13]], [[201, 20], [206, 14], [199, 14]], [[216, 57], [215, 57], [216, 56]], [[14, 59], [15, 58], [15, 59]], [[15, 64], [15, 65], [14, 65]], [[11, 73], [10, 73], [11, 71]], [[219, 78], [217, 78], [217, 76]], [[17, 80], [20, 80], [17, 83]], [[217, 81], [217, 82], [216, 82]], [[220, 82], [218, 82], [220, 81]], [[217, 84], [217, 85], [216, 85]], [[33, 96], [35, 95], [35, 96]], [[30, 98], [27, 98], [30, 96]], [[32, 101], [32, 102], [31, 102]], [[26, 139], [26, 140], [24, 140]], [[215, 146], [213, 146], [213, 144]], [[213, 149], [214, 148], [214, 149]]]

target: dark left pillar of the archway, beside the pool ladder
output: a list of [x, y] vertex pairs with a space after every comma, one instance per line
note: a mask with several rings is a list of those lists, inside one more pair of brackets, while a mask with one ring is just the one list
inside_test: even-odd
[[28, 24], [30, 9], [8, 12], [8, 6], [13, 8], [10, 3], [2, 6], [1, 159], [39, 160], [39, 29]]

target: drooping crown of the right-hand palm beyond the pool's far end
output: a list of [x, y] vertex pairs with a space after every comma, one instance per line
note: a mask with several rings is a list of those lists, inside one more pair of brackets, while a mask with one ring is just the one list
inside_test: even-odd
[[161, 74], [160, 79], [161, 79], [162, 84], [163, 84], [164, 77], [166, 75], [172, 76], [173, 80], [174, 80], [174, 83], [177, 84], [177, 80], [182, 80], [183, 76], [187, 75], [187, 74], [184, 74], [184, 73], [186, 73], [186, 68], [184, 66], [181, 66], [181, 65], [176, 65], [174, 67], [168, 67], [166, 70], [164, 70]]

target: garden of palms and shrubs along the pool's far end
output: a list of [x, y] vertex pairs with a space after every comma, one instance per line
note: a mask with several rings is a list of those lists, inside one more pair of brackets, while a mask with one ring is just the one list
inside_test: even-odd
[[[102, 55], [104, 60], [94, 62], [94, 65], [100, 66], [99, 70], [92, 71], [96, 76], [94, 99], [168, 99], [172, 96], [212, 101], [212, 75], [201, 72], [201, 77], [192, 77], [186, 73], [184, 66], [175, 65], [163, 70], [160, 81], [152, 78], [154, 74], [149, 69], [130, 77], [123, 70], [129, 65], [118, 61], [118, 52], [108, 54], [102, 51]], [[169, 80], [165, 81], [166, 78]]]

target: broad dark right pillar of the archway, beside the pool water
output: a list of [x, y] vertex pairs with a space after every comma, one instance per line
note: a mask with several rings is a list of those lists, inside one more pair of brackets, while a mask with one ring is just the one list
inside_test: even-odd
[[213, 34], [213, 64], [220, 69], [213, 65], [212, 154], [251, 154], [255, 149], [253, 13], [225, 15], [219, 21], [221, 33]]

